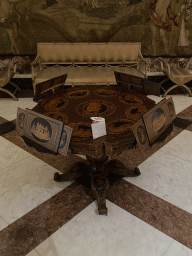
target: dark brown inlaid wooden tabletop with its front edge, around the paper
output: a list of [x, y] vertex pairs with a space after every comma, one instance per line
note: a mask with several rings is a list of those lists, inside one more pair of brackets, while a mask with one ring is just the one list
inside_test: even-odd
[[[130, 130], [155, 102], [146, 95], [116, 86], [81, 86], [48, 95], [33, 109], [73, 128], [70, 148], [74, 153], [99, 158], [115, 156], [131, 148]], [[92, 139], [90, 117], [104, 117], [107, 135]]]

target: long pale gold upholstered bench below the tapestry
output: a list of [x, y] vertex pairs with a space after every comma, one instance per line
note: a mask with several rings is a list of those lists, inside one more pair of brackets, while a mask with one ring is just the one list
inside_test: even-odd
[[[144, 73], [138, 69], [141, 61]], [[146, 65], [141, 43], [38, 43], [32, 63], [34, 93], [36, 84], [63, 74], [65, 85], [72, 86], [116, 84], [114, 71], [147, 77]]]

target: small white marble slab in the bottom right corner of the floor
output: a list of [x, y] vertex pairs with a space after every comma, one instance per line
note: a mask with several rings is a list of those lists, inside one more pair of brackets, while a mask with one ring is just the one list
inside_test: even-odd
[[163, 256], [192, 256], [192, 250], [174, 241]]

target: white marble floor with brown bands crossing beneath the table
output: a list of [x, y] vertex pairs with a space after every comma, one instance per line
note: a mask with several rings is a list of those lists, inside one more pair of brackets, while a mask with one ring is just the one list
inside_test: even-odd
[[132, 151], [141, 175], [109, 190], [107, 216], [88, 188], [53, 180], [81, 156], [47, 156], [15, 131], [17, 107], [33, 108], [32, 98], [0, 99], [0, 255], [192, 256], [192, 98], [172, 97], [172, 134]]

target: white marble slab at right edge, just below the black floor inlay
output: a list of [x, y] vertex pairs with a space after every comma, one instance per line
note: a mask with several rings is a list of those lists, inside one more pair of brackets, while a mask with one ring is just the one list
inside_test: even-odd
[[192, 162], [192, 132], [182, 131], [160, 150], [166, 154]]

